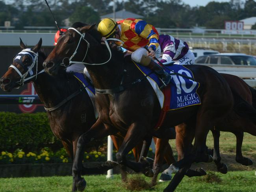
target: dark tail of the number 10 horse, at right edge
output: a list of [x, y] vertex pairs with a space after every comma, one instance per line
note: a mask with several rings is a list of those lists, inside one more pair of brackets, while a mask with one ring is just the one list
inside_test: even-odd
[[241, 96], [234, 89], [231, 89], [231, 91], [234, 97], [234, 110], [236, 114], [241, 117], [245, 117], [256, 124], [256, 108], [252, 107], [250, 103], [243, 100], [243, 98], [241, 98]]

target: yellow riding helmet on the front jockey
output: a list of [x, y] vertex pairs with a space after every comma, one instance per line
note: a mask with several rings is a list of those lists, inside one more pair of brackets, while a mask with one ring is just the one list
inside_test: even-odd
[[108, 38], [109, 36], [113, 35], [113, 33], [115, 33], [117, 25], [117, 22], [112, 20], [111, 18], [104, 18], [98, 24], [98, 31], [100, 31], [103, 37]]

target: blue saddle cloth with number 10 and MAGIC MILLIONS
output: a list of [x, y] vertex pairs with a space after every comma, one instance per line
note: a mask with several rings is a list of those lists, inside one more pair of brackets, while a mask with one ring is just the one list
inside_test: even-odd
[[173, 72], [175, 72], [193, 78], [192, 72], [183, 65], [164, 66], [164, 70], [171, 74], [172, 79], [171, 83], [167, 85], [163, 91], [159, 89], [162, 82], [155, 73], [152, 73], [152, 70], [137, 63], [134, 63], [134, 65], [147, 76], [148, 81], [156, 92], [161, 109], [169, 111], [201, 104], [199, 95], [197, 94], [197, 89], [200, 84], [191, 79], [173, 74]]

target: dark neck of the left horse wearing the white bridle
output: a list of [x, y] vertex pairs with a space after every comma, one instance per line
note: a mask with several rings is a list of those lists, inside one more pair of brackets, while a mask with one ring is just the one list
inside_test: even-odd
[[41, 102], [45, 107], [49, 108], [59, 104], [78, 89], [74, 81], [75, 79], [65, 78], [65, 74], [52, 77], [42, 73], [33, 81], [33, 85]]

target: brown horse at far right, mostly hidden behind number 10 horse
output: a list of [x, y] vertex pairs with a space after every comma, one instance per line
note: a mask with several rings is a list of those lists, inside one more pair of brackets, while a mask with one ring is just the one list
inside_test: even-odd
[[[243, 98], [244, 101], [248, 102], [254, 109], [256, 109], [256, 90], [249, 87], [245, 81], [237, 76], [230, 74], [221, 74], [226, 79], [230, 88]], [[229, 114], [230, 118], [226, 122], [222, 122], [218, 126], [214, 126], [211, 132], [214, 137], [214, 153], [213, 161], [217, 165], [217, 170], [223, 174], [226, 174], [227, 167], [221, 163], [221, 157], [219, 154], [219, 136], [220, 131], [228, 131], [236, 135], [236, 161], [243, 165], [251, 165], [252, 161], [249, 158], [243, 157], [241, 146], [243, 143], [243, 132], [248, 132], [251, 135], [256, 134], [255, 122], [250, 121], [246, 115], [236, 114], [236, 109], [232, 110]], [[183, 159], [185, 153], [189, 153], [191, 142], [194, 138], [194, 128], [188, 129], [187, 126], [195, 127], [195, 125], [181, 124], [176, 126], [176, 148], [178, 151], [178, 160]], [[165, 172], [164, 172], [165, 173]]]

